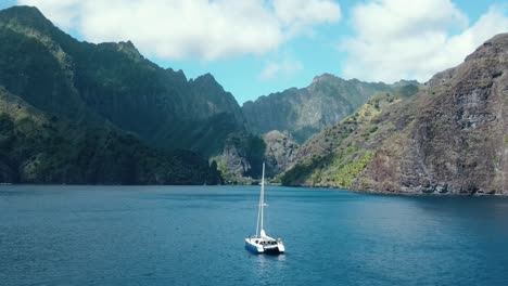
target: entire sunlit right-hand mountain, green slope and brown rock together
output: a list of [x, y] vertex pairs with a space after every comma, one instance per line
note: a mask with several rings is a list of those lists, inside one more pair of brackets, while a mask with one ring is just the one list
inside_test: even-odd
[[[284, 184], [508, 194], [508, 34], [414, 96], [380, 95], [301, 147]], [[328, 143], [328, 145], [327, 145]]]

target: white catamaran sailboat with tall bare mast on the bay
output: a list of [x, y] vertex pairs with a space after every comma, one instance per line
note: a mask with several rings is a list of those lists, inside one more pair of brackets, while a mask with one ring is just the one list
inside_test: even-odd
[[265, 204], [265, 164], [261, 183], [259, 207], [257, 211], [256, 235], [245, 238], [245, 248], [254, 253], [283, 253], [285, 251], [282, 239], [268, 236], [263, 229]]

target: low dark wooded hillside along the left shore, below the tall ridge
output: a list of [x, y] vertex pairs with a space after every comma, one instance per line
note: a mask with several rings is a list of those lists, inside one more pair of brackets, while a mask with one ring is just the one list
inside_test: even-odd
[[217, 173], [191, 152], [156, 152], [113, 128], [81, 128], [0, 88], [0, 182], [203, 184]]

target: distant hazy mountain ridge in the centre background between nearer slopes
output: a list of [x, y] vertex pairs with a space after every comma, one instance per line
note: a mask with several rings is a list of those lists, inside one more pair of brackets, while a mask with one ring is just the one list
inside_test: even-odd
[[292, 88], [245, 102], [242, 112], [253, 133], [287, 130], [297, 142], [304, 142], [321, 128], [351, 115], [373, 93], [392, 88], [382, 82], [344, 80], [325, 74], [307, 88]]

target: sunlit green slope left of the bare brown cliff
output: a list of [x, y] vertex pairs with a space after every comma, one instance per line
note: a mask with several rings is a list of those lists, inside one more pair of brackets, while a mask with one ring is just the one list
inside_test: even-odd
[[340, 123], [325, 128], [300, 147], [296, 162], [281, 177], [282, 183], [352, 187], [383, 141], [411, 120], [410, 102], [418, 90], [418, 86], [408, 84], [379, 92]]

